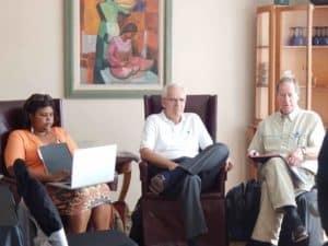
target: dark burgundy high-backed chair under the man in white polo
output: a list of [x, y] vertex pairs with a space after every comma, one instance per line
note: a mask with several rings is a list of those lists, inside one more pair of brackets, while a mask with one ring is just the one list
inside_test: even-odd
[[[144, 96], [143, 102], [145, 117], [162, 110], [160, 95]], [[186, 112], [198, 114], [215, 141], [216, 95], [188, 95]], [[148, 164], [142, 161], [139, 166], [142, 186], [141, 209], [144, 246], [187, 245], [178, 202], [151, 194], [149, 191]], [[209, 233], [201, 238], [201, 245], [227, 245], [225, 180], [226, 173], [222, 169], [213, 190], [201, 195], [201, 203], [209, 226]]]

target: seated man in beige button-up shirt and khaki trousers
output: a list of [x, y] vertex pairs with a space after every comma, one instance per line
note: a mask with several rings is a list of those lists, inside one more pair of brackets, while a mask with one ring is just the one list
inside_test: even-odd
[[[260, 165], [261, 200], [258, 219], [247, 246], [278, 245], [283, 215], [292, 227], [293, 241], [308, 237], [296, 210], [295, 196], [315, 185], [317, 156], [325, 137], [320, 117], [301, 109], [298, 85], [289, 74], [277, 85], [279, 112], [259, 124], [248, 148], [248, 155], [281, 154]], [[296, 168], [303, 181], [292, 176], [289, 166]]]

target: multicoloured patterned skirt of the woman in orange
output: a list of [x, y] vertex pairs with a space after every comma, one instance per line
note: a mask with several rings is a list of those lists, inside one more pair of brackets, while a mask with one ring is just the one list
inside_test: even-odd
[[62, 215], [72, 215], [102, 203], [110, 203], [110, 190], [106, 184], [74, 190], [47, 186], [47, 190]]

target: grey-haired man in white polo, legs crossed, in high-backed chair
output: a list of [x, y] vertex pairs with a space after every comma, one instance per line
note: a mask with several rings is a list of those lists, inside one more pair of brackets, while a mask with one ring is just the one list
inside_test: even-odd
[[200, 194], [213, 186], [221, 166], [229, 171], [233, 165], [227, 147], [213, 143], [200, 117], [184, 113], [185, 105], [184, 89], [166, 85], [163, 112], [147, 118], [140, 155], [151, 164], [150, 190], [180, 201], [186, 237], [191, 246], [208, 232]]

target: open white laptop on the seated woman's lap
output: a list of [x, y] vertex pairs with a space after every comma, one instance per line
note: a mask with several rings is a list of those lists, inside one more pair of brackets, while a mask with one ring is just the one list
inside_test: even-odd
[[[47, 183], [47, 185], [77, 189], [113, 181], [115, 177], [116, 152], [116, 144], [78, 149], [73, 153], [70, 180], [51, 181]], [[47, 162], [44, 163], [47, 169], [51, 169], [51, 167], [47, 167]]]

